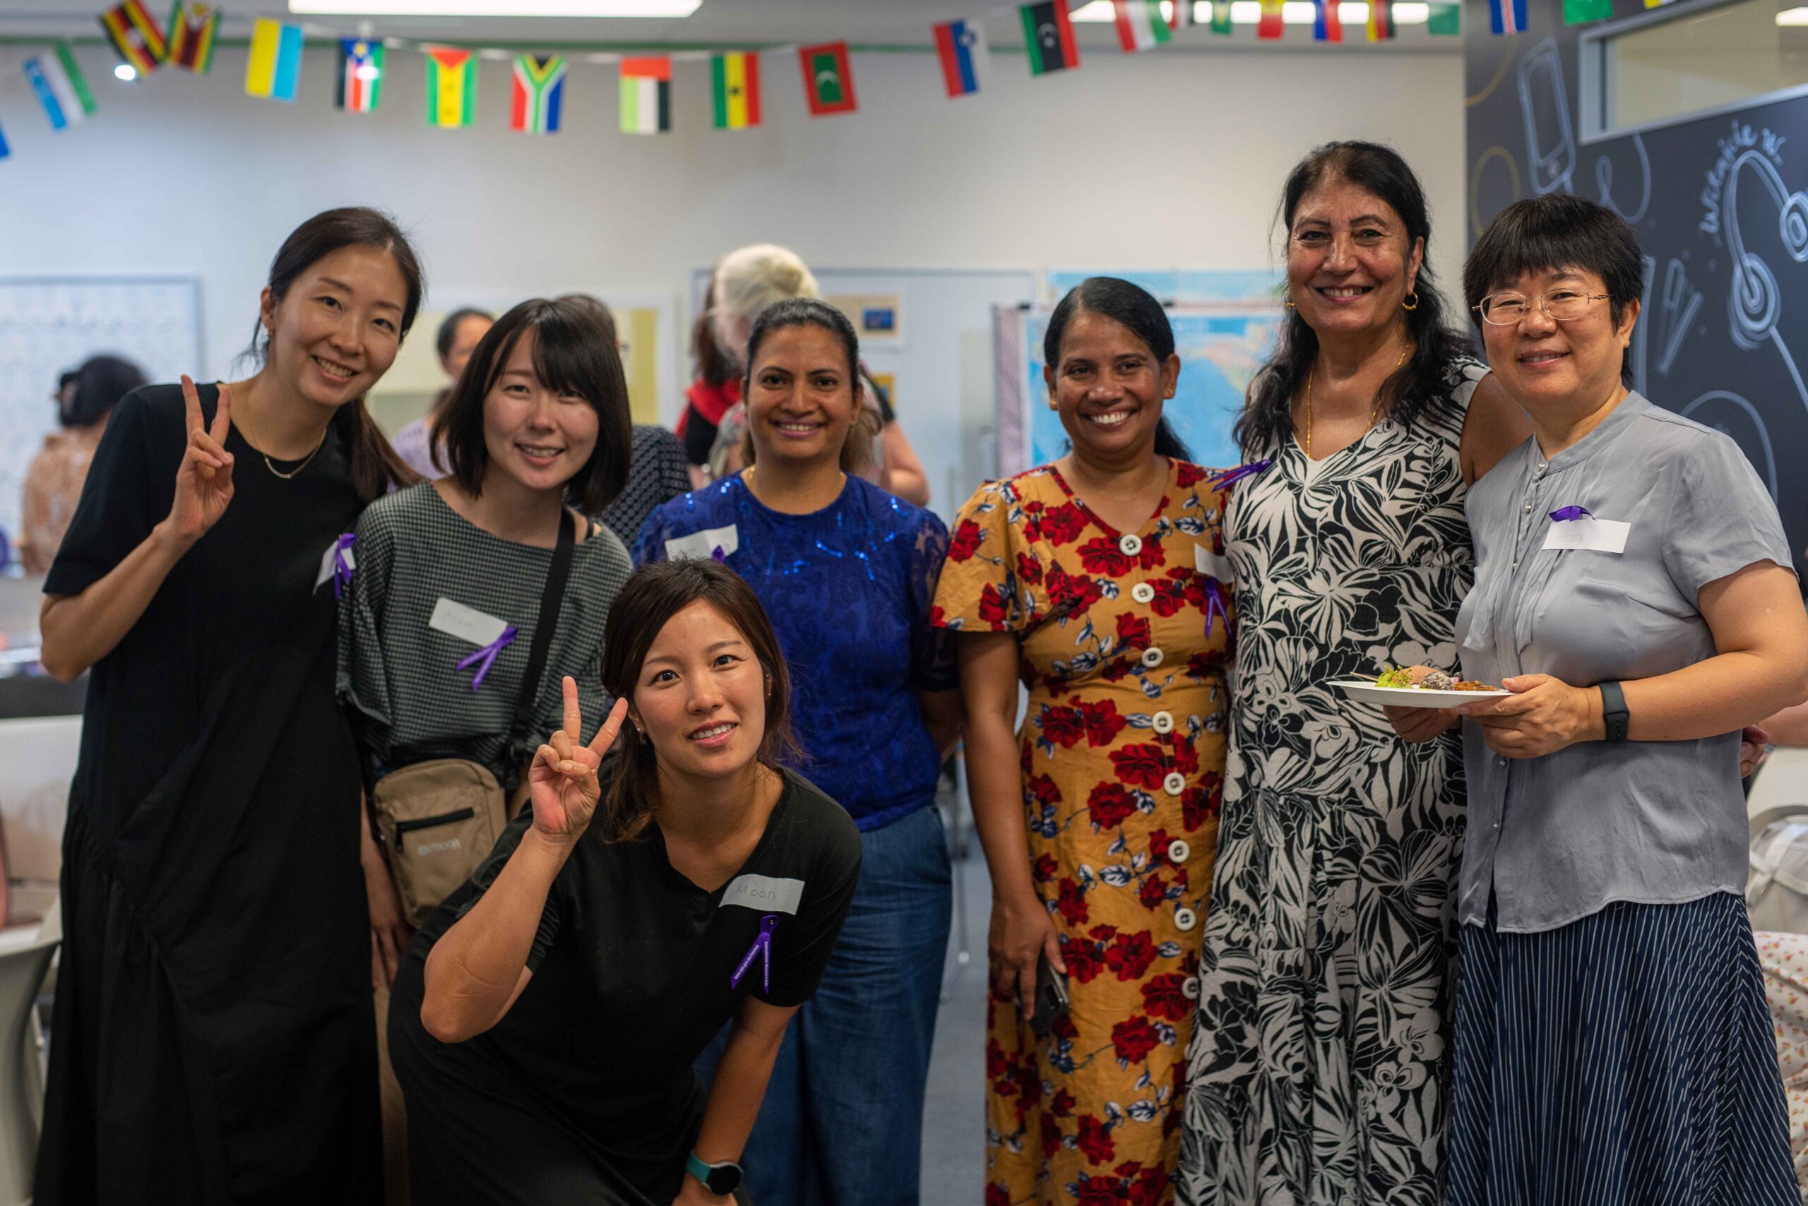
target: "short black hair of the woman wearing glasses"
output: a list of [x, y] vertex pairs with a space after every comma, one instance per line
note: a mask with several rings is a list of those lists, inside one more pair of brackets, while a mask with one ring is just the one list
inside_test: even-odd
[[[1526, 273], [1578, 268], [1607, 286], [1615, 331], [1627, 302], [1645, 295], [1645, 251], [1625, 219], [1604, 204], [1573, 193], [1526, 197], [1501, 210], [1475, 240], [1463, 264], [1463, 298], [1475, 329], [1483, 327], [1481, 300]], [[1620, 382], [1633, 383], [1633, 349], [1620, 358]]]

